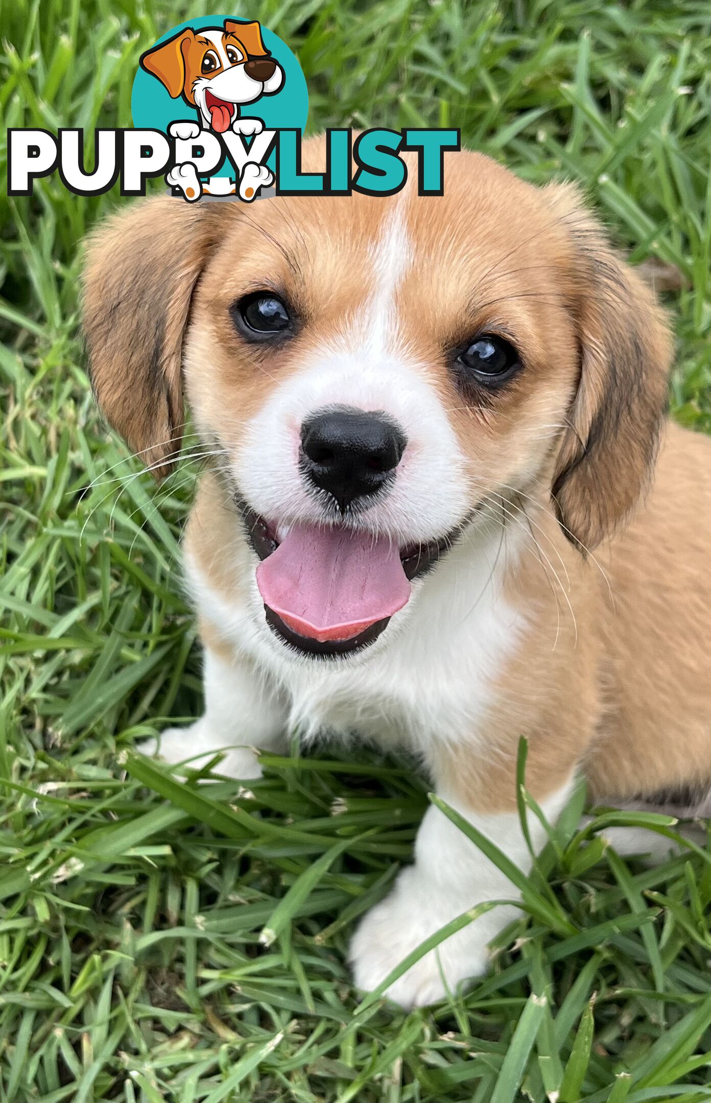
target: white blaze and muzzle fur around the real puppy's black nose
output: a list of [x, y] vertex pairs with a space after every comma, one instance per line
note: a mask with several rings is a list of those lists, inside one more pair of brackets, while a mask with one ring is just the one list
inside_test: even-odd
[[[388, 494], [373, 501], [359, 521], [404, 547], [448, 533], [466, 516], [469, 495], [466, 457], [428, 364], [417, 357], [397, 318], [416, 243], [408, 233], [407, 204], [401, 197], [388, 206], [365, 257], [367, 293], [355, 318], [344, 314], [339, 332], [309, 342], [291, 373], [270, 388], [245, 428], [234, 476], [256, 513], [277, 523], [318, 524], [323, 505], [309, 492], [299, 465], [304, 422], [335, 406], [383, 410], [407, 445]], [[304, 340], [308, 338], [307, 330]], [[269, 441], [266, 451], [264, 440]]]

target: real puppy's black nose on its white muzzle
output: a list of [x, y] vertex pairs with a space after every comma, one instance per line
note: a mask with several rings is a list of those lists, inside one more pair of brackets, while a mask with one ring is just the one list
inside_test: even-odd
[[374, 494], [388, 482], [406, 442], [384, 414], [326, 410], [301, 427], [301, 465], [343, 513], [354, 499]]

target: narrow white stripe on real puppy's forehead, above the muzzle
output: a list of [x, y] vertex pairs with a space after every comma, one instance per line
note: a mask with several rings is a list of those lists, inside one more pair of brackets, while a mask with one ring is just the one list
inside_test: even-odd
[[386, 215], [380, 238], [372, 247], [373, 291], [368, 298], [363, 329], [374, 354], [392, 347], [399, 333], [396, 292], [412, 266], [406, 197], [401, 195]]

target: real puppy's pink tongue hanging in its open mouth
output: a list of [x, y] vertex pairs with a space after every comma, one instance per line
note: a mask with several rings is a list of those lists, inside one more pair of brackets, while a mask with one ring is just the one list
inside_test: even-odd
[[295, 525], [257, 567], [264, 603], [311, 640], [350, 640], [406, 603], [410, 582], [388, 537]]

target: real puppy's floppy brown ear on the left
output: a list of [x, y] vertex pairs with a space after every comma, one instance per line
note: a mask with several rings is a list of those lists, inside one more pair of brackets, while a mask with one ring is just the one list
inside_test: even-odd
[[180, 449], [183, 334], [219, 221], [206, 205], [161, 195], [109, 218], [87, 245], [92, 386], [109, 424], [157, 478]]

